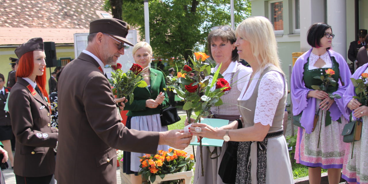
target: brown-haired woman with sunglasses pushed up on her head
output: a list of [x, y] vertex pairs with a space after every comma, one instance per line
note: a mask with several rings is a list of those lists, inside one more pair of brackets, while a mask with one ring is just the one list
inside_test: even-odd
[[[208, 34], [207, 44], [208, 52], [211, 59], [216, 61], [216, 67], [212, 69], [215, 72], [220, 64], [220, 74], [229, 82], [231, 89], [221, 96], [224, 102], [221, 106], [211, 108], [213, 118], [220, 118], [233, 122], [240, 117], [236, 99], [239, 97], [241, 90], [244, 88], [252, 72], [252, 68], [245, 67], [238, 62], [239, 55], [235, 46], [235, 31], [229, 26], [215, 26]], [[215, 87], [213, 87], [214, 89]], [[194, 121], [194, 119], [192, 120]], [[186, 121], [187, 122], [187, 121]], [[185, 126], [188, 123], [185, 123]], [[205, 146], [202, 150], [204, 176], [202, 176], [201, 164], [195, 165], [194, 184], [213, 183], [223, 184], [220, 178], [219, 166], [226, 150], [227, 142], [222, 147]], [[197, 163], [201, 163], [199, 146], [197, 147]]]

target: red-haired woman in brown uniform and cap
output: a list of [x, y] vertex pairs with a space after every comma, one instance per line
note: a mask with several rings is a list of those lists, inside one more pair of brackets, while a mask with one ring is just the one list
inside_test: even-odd
[[14, 52], [19, 66], [8, 105], [17, 140], [15, 179], [17, 184], [49, 184], [55, 170], [53, 148], [57, 145], [58, 130], [50, 124], [43, 40], [32, 38]]

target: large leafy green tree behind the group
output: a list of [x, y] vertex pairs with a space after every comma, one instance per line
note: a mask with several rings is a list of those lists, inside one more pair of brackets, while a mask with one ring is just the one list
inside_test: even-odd
[[[111, 1], [105, 1], [107, 11]], [[138, 27], [144, 38], [144, 0], [124, 0], [122, 7], [123, 20]], [[234, 0], [235, 25], [250, 14], [249, 0]], [[187, 61], [217, 25], [230, 25], [230, 0], [149, 0], [150, 43], [156, 58]]]

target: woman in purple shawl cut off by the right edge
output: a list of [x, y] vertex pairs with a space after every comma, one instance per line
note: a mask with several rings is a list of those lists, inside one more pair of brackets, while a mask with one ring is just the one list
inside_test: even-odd
[[[368, 63], [359, 67], [351, 76], [354, 79], [366, 78], [368, 73]], [[365, 74], [363, 74], [365, 73]], [[363, 75], [362, 75], [363, 74]], [[343, 166], [343, 178], [349, 184], [359, 182], [360, 184], [368, 184], [368, 107], [367, 103], [361, 104], [353, 96], [357, 96], [353, 83], [349, 83], [343, 99], [347, 113], [353, 112], [353, 119], [362, 118], [363, 126], [360, 141], [354, 142], [353, 158], [351, 158], [352, 145], [346, 144], [346, 152]]]

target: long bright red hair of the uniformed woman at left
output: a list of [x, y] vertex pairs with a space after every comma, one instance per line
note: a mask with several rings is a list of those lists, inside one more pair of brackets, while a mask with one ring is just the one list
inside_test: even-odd
[[[31, 76], [32, 72], [33, 72], [33, 66], [34, 66], [33, 51], [26, 52], [19, 59], [18, 69], [15, 73], [15, 76], [16, 77], [29, 77], [29, 76]], [[40, 91], [42, 92], [42, 95], [46, 96], [47, 101], [50, 102], [49, 95], [47, 94], [47, 91], [46, 91], [46, 88], [45, 88], [45, 86], [46, 86], [46, 67], [45, 67], [45, 70], [43, 72], [43, 75], [40, 75], [40, 76], [37, 75], [36, 76], [36, 84], [37, 84], [38, 88], [40, 89]]]

